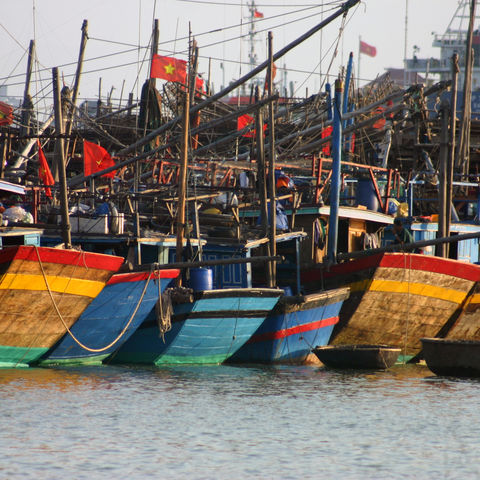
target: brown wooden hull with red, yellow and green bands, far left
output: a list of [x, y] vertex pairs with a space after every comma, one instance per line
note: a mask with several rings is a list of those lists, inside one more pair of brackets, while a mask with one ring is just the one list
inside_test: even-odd
[[44, 355], [122, 263], [121, 257], [76, 250], [2, 249], [0, 366], [27, 366]]

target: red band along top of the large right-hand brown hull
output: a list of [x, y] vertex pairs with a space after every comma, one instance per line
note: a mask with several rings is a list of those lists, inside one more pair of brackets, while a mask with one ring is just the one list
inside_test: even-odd
[[[451, 275], [452, 277], [463, 278], [472, 282], [480, 281], [480, 265], [415, 253], [378, 253], [370, 257], [334, 265], [329, 270], [325, 270], [323, 276], [324, 278], [331, 278], [336, 275], [352, 274], [377, 267], [407, 268]], [[302, 281], [305, 282], [318, 281], [320, 278], [320, 269], [312, 269], [302, 275]]]

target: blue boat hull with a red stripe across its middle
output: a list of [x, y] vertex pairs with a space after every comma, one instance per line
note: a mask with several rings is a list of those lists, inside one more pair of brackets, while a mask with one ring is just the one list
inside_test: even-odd
[[230, 363], [304, 363], [316, 345], [326, 345], [346, 288], [306, 296], [284, 296]]

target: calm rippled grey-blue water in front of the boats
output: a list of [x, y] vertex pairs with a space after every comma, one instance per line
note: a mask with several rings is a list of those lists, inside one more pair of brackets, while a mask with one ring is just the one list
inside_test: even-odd
[[0, 478], [479, 478], [480, 382], [425, 367], [0, 370]]

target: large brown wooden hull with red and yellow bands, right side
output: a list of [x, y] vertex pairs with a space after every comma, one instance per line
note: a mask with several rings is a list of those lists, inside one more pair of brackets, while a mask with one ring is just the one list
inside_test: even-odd
[[384, 253], [307, 272], [304, 280], [350, 287], [333, 345], [386, 344], [411, 358], [435, 337], [480, 280], [480, 266], [427, 255]]

